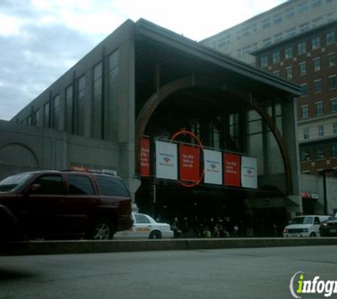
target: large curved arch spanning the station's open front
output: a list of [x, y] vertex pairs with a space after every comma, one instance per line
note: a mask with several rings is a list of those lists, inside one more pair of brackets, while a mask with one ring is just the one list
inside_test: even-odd
[[143, 108], [141, 109], [138, 118], [136, 120], [136, 173], [140, 173], [140, 163], [138, 163], [140, 152], [141, 152], [141, 140], [143, 137], [143, 133], [145, 130], [146, 125], [148, 124], [148, 120], [150, 120], [151, 115], [155, 111], [160, 103], [165, 101], [168, 96], [174, 94], [177, 91], [182, 89], [187, 89], [189, 87], [194, 86], [204, 86], [204, 87], [211, 87], [214, 89], [218, 89], [221, 91], [225, 91], [228, 94], [241, 98], [241, 100], [245, 101], [248, 106], [251, 106], [255, 111], [257, 111], [263, 120], [267, 123], [270, 127], [272, 135], [274, 135], [277, 145], [280, 148], [280, 152], [282, 154], [282, 159], [284, 163], [284, 172], [286, 176], [286, 184], [287, 184], [287, 192], [292, 193], [292, 171], [291, 171], [291, 163], [289, 159], [289, 154], [287, 151], [286, 146], [284, 145], [282, 135], [280, 131], [275, 127], [272, 122], [272, 118], [270, 115], [260, 106], [259, 103], [253, 101], [253, 97], [250, 93], [243, 91], [242, 88], [235, 86], [231, 83], [231, 86], [226, 86], [226, 84], [219, 80], [214, 79], [211, 77], [184, 77], [181, 79], [177, 79], [172, 81], [162, 87], [148, 98], [148, 101], [145, 102]]

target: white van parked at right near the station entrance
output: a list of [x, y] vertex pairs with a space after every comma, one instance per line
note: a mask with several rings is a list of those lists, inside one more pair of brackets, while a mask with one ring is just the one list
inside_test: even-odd
[[295, 217], [284, 227], [283, 237], [319, 237], [319, 225], [328, 220], [327, 215], [303, 215]]

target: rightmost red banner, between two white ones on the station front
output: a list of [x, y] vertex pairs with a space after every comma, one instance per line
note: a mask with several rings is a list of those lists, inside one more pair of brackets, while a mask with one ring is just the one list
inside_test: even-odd
[[228, 186], [241, 186], [241, 159], [238, 154], [223, 154], [223, 178]]

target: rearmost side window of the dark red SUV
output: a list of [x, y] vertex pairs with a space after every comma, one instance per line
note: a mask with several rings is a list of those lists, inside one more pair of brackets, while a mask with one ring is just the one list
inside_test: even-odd
[[128, 189], [121, 179], [112, 176], [96, 176], [97, 183], [101, 189], [101, 195], [105, 196], [129, 196]]

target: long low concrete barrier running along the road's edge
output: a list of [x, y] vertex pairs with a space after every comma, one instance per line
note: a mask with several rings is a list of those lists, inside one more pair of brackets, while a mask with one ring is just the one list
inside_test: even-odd
[[7, 244], [2, 255], [80, 254], [102, 252], [144, 252], [158, 250], [198, 250], [250, 247], [295, 247], [337, 245], [337, 237], [319, 238], [226, 238], [155, 240], [74, 240], [31, 241]]

